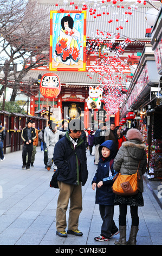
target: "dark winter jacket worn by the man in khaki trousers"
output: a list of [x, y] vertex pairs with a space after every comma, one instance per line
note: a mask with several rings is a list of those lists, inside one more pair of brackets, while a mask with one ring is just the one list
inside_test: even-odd
[[82, 185], [85, 185], [88, 178], [88, 170], [85, 143], [82, 138], [78, 139], [76, 149], [76, 153], [69, 157], [74, 151], [73, 143], [69, 138], [69, 132], [66, 132], [66, 135], [56, 143], [54, 163], [59, 171], [57, 180], [77, 185], [77, 173], [80, 170], [80, 181], [82, 181]]

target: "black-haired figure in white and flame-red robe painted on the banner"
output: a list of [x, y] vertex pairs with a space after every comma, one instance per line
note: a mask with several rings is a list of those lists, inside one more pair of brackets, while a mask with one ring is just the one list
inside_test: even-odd
[[78, 65], [80, 59], [79, 44], [82, 41], [80, 32], [73, 25], [72, 17], [64, 16], [61, 19], [62, 28], [53, 54], [55, 66], [59, 65], [59, 62], [67, 65]]

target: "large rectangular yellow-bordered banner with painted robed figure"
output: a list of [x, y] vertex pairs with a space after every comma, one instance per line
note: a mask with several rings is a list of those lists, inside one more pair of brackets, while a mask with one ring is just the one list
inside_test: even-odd
[[86, 11], [50, 11], [49, 69], [86, 70]]

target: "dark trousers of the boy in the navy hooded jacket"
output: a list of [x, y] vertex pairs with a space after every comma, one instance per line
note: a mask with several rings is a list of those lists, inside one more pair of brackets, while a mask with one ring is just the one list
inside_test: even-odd
[[100, 205], [99, 209], [103, 221], [101, 235], [109, 238], [111, 234], [114, 234], [118, 230], [113, 221], [114, 205]]

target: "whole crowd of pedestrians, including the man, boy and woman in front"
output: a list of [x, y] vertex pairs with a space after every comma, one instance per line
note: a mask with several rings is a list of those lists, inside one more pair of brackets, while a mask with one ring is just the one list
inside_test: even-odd
[[[78, 229], [79, 216], [82, 211], [82, 186], [88, 178], [86, 152], [94, 157], [94, 164], [98, 167], [92, 179], [92, 189], [96, 190], [95, 203], [99, 204], [102, 218], [101, 232], [94, 237], [96, 241], [108, 241], [120, 233], [115, 245], [136, 245], [139, 227], [138, 207], [144, 206], [142, 197], [142, 175], [146, 172], [147, 158], [143, 138], [139, 130], [127, 129], [121, 131], [111, 123], [99, 125], [99, 129], [85, 129], [80, 119], [70, 122], [63, 120], [59, 127], [53, 121], [38, 133], [35, 122], [27, 120], [22, 130], [23, 150], [22, 169], [30, 170], [34, 167], [38, 141], [41, 152], [44, 153], [45, 168], [54, 172], [57, 170], [59, 197], [56, 210], [56, 235], [67, 237], [68, 234], [82, 236]], [[0, 156], [4, 160], [3, 141], [5, 129], [0, 120]], [[139, 164], [140, 162], [140, 164]], [[114, 177], [117, 173], [130, 175], [139, 166], [139, 191], [133, 196], [119, 196], [112, 191]], [[68, 227], [66, 211], [69, 205]], [[114, 206], [119, 205], [119, 227], [113, 220]], [[132, 217], [131, 232], [126, 241], [127, 206], [130, 206]], [[67, 231], [66, 231], [67, 228]]]

